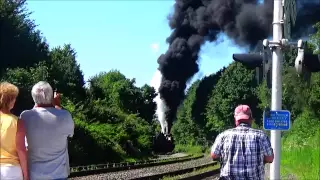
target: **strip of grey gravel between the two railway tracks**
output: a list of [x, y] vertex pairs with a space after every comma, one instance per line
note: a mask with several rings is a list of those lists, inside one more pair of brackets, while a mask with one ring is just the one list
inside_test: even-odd
[[96, 179], [127, 180], [127, 179], [133, 179], [138, 177], [144, 177], [144, 176], [182, 170], [186, 168], [192, 168], [202, 164], [207, 164], [209, 162], [212, 162], [212, 159], [210, 157], [204, 157], [204, 158], [181, 162], [181, 163], [153, 166], [153, 167], [147, 167], [147, 168], [141, 168], [141, 169], [132, 169], [127, 171], [110, 172], [110, 173], [89, 175], [89, 176], [83, 176], [83, 177], [74, 177], [69, 179], [70, 180], [96, 180]]

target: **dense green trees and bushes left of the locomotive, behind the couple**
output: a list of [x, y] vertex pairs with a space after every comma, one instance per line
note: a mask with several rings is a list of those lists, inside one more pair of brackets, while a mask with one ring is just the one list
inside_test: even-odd
[[137, 87], [117, 70], [97, 74], [85, 87], [76, 51], [70, 44], [49, 48], [29, 18], [26, 1], [1, 1], [0, 15], [0, 79], [20, 89], [14, 114], [33, 107], [31, 88], [45, 80], [62, 93], [62, 104], [75, 120], [72, 165], [149, 154], [157, 126], [152, 87]]

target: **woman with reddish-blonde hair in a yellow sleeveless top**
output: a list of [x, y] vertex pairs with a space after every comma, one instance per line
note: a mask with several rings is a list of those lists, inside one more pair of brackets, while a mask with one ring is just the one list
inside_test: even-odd
[[10, 111], [19, 89], [8, 82], [0, 83], [0, 179], [28, 180], [27, 151], [23, 121]]

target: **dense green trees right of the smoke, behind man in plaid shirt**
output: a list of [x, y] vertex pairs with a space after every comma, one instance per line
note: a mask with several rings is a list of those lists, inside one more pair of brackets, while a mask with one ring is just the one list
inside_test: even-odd
[[[317, 32], [310, 36], [307, 51], [318, 54], [320, 22], [314, 28]], [[307, 137], [301, 135], [293, 143], [300, 146], [299, 142], [313, 137], [320, 127], [320, 73], [312, 73], [310, 81], [298, 77], [294, 69], [296, 55], [294, 47], [284, 50], [282, 109], [291, 112], [293, 129], [289, 132], [308, 131]], [[257, 83], [255, 70], [232, 62], [189, 88], [172, 128], [176, 141], [192, 145], [212, 143], [218, 133], [234, 126], [233, 110], [238, 104], [252, 108], [254, 127], [262, 129], [262, 112], [271, 106], [271, 89], [266, 81]], [[284, 137], [289, 136], [289, 132], [283, 133]]]

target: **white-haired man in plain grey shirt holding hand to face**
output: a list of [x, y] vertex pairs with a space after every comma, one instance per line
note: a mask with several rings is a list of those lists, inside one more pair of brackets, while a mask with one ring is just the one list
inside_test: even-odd
[[68, 137], [73, 136], [71, 114], [61, 109], [59, 94], [40, 81], [32, 88], [35, 106], [23, 111], [28, 141], [28, 168], [32, 180], [64, 180], [70, 173]]

